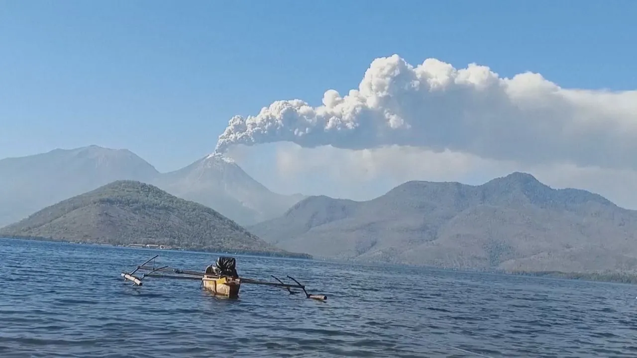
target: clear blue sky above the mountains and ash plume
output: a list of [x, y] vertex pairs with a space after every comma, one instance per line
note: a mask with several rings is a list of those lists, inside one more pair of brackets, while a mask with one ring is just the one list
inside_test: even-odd
[[0, 157], [97, 144], [160, 171], [233, 115], [320, 104], [399, 54], [636, 88], [634, 1], [0, 1]]

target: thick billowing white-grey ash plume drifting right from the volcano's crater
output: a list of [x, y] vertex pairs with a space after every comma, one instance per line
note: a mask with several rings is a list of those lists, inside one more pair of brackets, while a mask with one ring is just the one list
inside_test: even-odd
[[637, 91], [563, 89], [537, 73], [501, 78], [477, 64], [455, 69], [427, 59], [412, 66], [392, 55], [375, 59], [347, 95], [327, 90], [321, 106], [292, 99], [234, 116], [215, 153], [277, 141], [637, 169]]

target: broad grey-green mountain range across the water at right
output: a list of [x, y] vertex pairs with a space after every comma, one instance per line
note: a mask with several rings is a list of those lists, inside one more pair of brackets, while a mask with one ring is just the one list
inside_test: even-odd
[[477, 186], [406, 182], [362, 202], [312, 196], [248, 229], [318, 257], [505, 271], [637, 269], [637, 211], [526, 173]]

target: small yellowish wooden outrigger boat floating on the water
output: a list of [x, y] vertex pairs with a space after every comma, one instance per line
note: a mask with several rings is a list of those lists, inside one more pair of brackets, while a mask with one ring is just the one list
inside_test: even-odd
[[[201, 285], [203, 285], [204, 289], [209, 290], [215, 295], [225, 296], [230, 298], [236, 298], [239, 296], [239, 289], [241, 288], [241, 283], [248, 283], [250, 285], [264, 285], [270, 287], [277, 287], [280, 289], [287, 290], [290, 294], [299, 294], [300, 291], [295, 291], [292, 289], [301, 289], [303, 290], [305, 296], [311, 299], [317, 299], [319, 301], [325, 301], [327, 296], [324, 294], [308, 294], [305, 290], [305, 286], [301, 285], [294, 278], [287, 276], [290, 280], [296, 282], [294, 284], [283, 283], [283, 281], [279, 280], [275, 276], [271, 275], [278, 283], [276, 282], [267, 282], [267, 281], [259, 281], [253, 280], [252, 278], [241, 278], [237, 274], [236, 271], [236, 260], [234, 257], [221, 256], [218, 257], [217, 262], [214, 265], [208, 266], [204, 272], [193, 271], [189, 269], [178, 269], [171, 268], [169, 266], [162, 266], [155, 268], [155, 259], [159, 255], [155, 255], [154, 257], [148, 259], [148, 261], [143, 264], [137, 266], [132, 272], [124, 272], [122, 271], [122, 277], [124, 277], [124, 281], [131, 281], [133, 285], [141, 286], [143, 285], [143, 279], [147, 277], [154, 278], [178, 278], [182, 280], [199, 280], [201, 281]], [[153, 262], [152, 266], [148, 266], [149, 262]], [[135, 273], [138, 271], [147, 271], [141, 275], [135, 276]]]

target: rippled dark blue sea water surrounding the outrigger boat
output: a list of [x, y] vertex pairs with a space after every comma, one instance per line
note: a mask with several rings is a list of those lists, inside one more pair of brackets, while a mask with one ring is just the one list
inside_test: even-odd
[[326, 302], [242, 285], [120, 277], [217, 255], [0, 239], [0, 357], [636, 357], [637, 287], [237, 256]]

